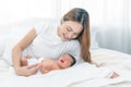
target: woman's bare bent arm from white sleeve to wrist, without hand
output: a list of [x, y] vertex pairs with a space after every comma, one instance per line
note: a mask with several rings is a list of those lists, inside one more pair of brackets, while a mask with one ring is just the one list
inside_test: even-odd
[[34, 38], [36, 37], [36, 32], [35, 29], [31, 29], [28, 32], [28, 34], [13, 48], [12, 50], [12, 58], [13, 58], [13, 64], [14, 64], [14, 69], [20, 67], [21, 66], [21, 55], [22, 55], [22, 51], [28, 46], [31, 45], [31, 42], [34, 40]]

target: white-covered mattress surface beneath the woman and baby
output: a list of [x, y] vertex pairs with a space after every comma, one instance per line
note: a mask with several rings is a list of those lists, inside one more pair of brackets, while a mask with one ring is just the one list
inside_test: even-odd
[[[13, 67], [0, 59], [1, 87], [131, 87], [131, 55], [109, 49], [92, 50], [92, 59], [102, 64], [96, 70], [94, 65], [81, 64], [49, 74], [17, 76]], [[92, 69], [93, 67], [93, 69]], [[117, 72], [117, 78], [106, 78], [110, 71]], [[107, 71], [107, 72], [105, 72]]]

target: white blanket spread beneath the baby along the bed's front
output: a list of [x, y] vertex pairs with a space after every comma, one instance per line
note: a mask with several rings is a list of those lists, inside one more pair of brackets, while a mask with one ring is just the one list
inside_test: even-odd
[[[72, 85], [84, 80], [88, 87], [102, 87], [127, 80], [123, 77], [122, 79], [121, 77], [108, 78], [111, 73], [112, 71], [107, 67], [82, 63], [67, 70], [24, 77], [15, 75], [13, 67], [11, 67], [9, 72], [0, 73], [0, 87], [72, 87]], [[80, 86], [78, 85], [78, 87]]]

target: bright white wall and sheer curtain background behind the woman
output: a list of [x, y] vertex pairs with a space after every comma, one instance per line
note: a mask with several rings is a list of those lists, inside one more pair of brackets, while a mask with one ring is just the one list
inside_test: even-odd
[[0, 26], [31, 17], [61, 18], [72, 8], [87, 10], [100, 47], [131, 53], [131, 0], [0, 0]]

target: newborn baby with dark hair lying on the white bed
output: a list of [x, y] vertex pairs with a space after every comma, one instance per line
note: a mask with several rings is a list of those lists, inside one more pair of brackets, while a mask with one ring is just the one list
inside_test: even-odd
[[[34, 58], [33, 58], [34, 59]], [[21, 65], [26, 66], [28, 65], [28, 61], [32, 60], [29, 55], [23, 58], [21, 60]], [[36, 60], [36, 59], [34, 59]], [[72, 66], [75, 63], [75, 58], [71, 54], [63, 54], [61, 55], [58, 61], [48, 59], [48, 60], [43, 60], [40, 63], [37, 63], [37, 67], [39, 71], [45, 74], [48, 73], [52, 70], [62, 70]]]

